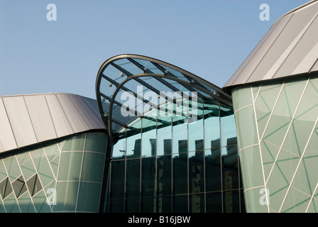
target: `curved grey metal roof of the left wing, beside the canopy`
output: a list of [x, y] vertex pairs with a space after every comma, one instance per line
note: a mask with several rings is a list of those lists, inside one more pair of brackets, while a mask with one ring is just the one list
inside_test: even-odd
[[84, 131], [105, 130], [94, 99], [65, 93], [0, 98], [0, 153]]

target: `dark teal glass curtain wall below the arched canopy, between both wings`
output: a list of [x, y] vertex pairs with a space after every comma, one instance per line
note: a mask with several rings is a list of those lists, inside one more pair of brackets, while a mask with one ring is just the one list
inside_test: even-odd
[[174, 101], [116, 133], [104, 212], [245, 211], [234, 114], [210, 100], [192, 123]]

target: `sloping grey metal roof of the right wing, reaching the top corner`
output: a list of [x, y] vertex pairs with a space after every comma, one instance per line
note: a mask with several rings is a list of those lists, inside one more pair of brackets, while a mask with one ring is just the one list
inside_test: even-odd
[[314, 0], [275, 21], [224, 88], [317, 71], [317, 16]]

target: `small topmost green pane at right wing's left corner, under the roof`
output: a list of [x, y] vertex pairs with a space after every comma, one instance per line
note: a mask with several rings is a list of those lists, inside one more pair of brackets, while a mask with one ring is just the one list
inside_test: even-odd
[[234, 110], [253, 104], [251, 87], [243, 87], [232, 92]]

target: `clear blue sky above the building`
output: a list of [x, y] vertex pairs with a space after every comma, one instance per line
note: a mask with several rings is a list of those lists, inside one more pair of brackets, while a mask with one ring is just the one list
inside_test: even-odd
[[[0, 95], [95, 99], [109, 57], [147, 55], [223, 87], [270, 26], [309, 0], [0, 0]], [[48, 21], [48, 4], [57, 21]], [[270, 21], [261, 21], [261, 4]]]

